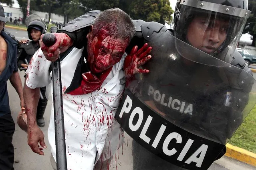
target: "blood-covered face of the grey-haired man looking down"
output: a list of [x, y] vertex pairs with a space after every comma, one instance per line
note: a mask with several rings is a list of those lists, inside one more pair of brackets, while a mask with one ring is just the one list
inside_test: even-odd
[[105, 28], [95, 35], [89, 33], [87, 38], [87, 60], [92, 73], [101, 73], [118, 63], [128, 45], [127, 40], [110, 35]]

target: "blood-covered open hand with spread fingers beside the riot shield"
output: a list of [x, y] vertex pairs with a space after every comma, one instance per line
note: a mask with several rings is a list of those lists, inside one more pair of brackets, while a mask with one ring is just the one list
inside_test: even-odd
[[136, 73], [149, 73], [149, 70], [139, 69], [139, 67], [151, 59], [151, 55], [149, 55], [151, 49], [152, 47], [147, 47], [147, 43], [145, 43], [139, 50], [136, 45], [131, 50], [131, 53], [125, 57], [123, 68], [125, 70], [126, 81], [133, 79]]

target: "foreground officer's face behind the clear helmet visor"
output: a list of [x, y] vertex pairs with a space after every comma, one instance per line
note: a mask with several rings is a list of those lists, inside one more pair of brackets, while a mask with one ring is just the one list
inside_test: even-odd
[[217, 18], [197, 16], [187, 30], [187, 40], [192, 46], [213, 53], [226, 40], [229, 22]]

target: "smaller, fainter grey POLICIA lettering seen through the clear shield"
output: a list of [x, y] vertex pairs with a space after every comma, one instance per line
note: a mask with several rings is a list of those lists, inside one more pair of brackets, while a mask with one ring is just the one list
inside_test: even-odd
[[189, 115], [193, 115], [193, 104], [186, 103], [185, 101], [180, 101], [179, 99], [173, 99], [171, 96], [165, 99], [165, 94], [161, 94], [159, 90], [155, 90], [151, 85], [149, 85], [148, 95], [153, 96], [154, 101], [159, 102], [161, 105], [167, 106], [170, 109], [179, 111], [180, 113], [185, 113]]

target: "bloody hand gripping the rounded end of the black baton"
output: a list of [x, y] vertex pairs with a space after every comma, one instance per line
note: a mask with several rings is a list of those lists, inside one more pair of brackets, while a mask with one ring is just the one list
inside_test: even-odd
[[56, 42], [50, 47], [42, 42], [44, 34], [41, 35], [39, 44], [45, 58], [49, 61], [56, 61], [60, 53], [66, 51], [71, 45], [73, 45], [73, 40], [65, 33], [52, 33], [56, 37]]

